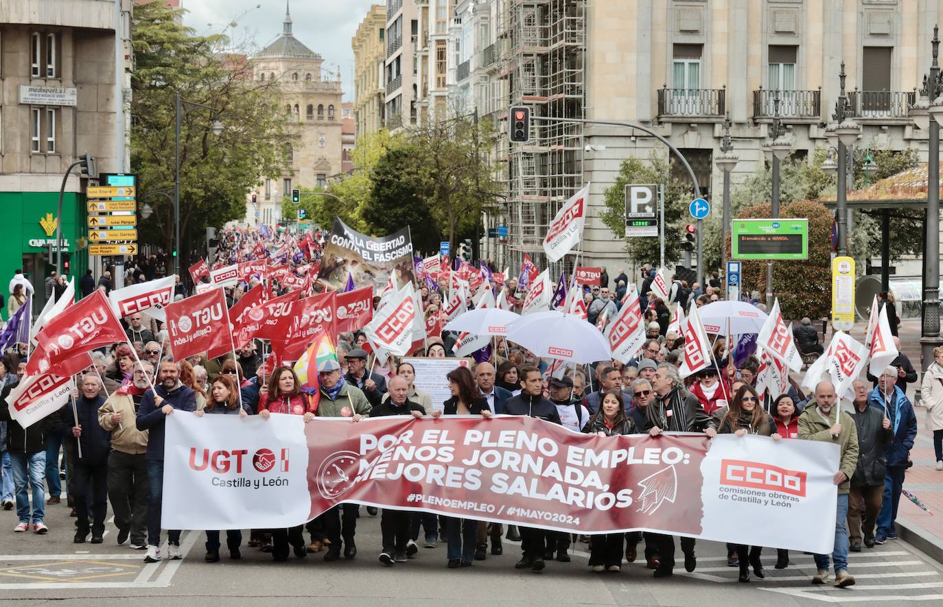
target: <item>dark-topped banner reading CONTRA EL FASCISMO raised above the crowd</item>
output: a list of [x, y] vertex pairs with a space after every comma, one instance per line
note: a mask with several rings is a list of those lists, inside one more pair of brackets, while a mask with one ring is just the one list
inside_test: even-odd
[[373, 237], [334, 218], [319, 276], [337, 290], [343, 290], [348, 272], [357, 287], [370, 286], [374, 291], [387, 286], [391, 273], [396, 274], [398, 285], [405, 285], [416, 280], [412, 253], [408, 226], [389, 236]]

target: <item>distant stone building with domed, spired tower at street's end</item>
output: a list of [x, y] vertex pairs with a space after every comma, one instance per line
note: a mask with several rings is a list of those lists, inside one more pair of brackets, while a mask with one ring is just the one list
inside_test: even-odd
[[282, 201], [291, 189], [323, 188], [328, 176], [343, 169], [340, 73], [323, 70], [322, 57], [292, 35], [291, 25], [286, 9], [282, 35], [249, 59], [254, 79], [277, 84], [288, 156], [281, 178], [262, 178], [250, 194], [249, 225], [280, 221]]

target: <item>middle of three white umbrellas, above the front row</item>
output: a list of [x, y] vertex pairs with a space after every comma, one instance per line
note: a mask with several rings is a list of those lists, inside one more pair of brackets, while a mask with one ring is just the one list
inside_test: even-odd
[[540, 358], [578, 363], [610, 360], [609, 342], [595, 326], [572, 314], [555, 310], [528, 314], [510, 324], [507, 339]]

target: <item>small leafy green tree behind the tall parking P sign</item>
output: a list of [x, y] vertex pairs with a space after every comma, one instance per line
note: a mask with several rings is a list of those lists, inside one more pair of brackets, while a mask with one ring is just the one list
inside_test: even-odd
[[[672, 160], [673, 162], [673, 160]], [[637, 263], [658, 264], [660, 244], [657, 237], [625, 238], [625, 186], [627, 184], [665, 185], [665, 263], [681, 258], [681, 239], [689, 222], [687, 205], [692, 199], [690, 186], [671, 177], [671, 166], [663, 154], [654, 153], [646, 162], [639, 158], [623, 160], [615, 183], [605, 189], [605, 210], [600, 219], [616, 238], [625, 240], [625, 251]]]

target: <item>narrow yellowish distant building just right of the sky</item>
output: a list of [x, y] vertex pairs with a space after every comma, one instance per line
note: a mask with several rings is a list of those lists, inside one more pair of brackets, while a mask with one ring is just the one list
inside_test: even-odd
[[356, 137], [383, 127], [387, 104], [386, 73], [387, 8], [375, 4], [357, 25], [351, 39], [354, 49], [354, 122]]

